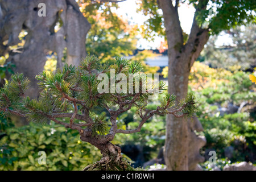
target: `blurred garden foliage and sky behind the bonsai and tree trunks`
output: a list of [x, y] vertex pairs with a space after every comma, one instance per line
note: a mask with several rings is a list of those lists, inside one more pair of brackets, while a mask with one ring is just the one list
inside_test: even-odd
[[[31, 6], [36, 6], [38, 2]], [[97, 55], [102, 64], [106, 61], [114, 64], [115, 57], [137, 61], [143, 65], [145, 73], [159, 73], [159, 79], [168, 85], [170, 55], [164, 32], [166, 29], [163, 26], [163, 13], [160, 9], [156, 10], [156, 1], [73, 1], [76, 5], [73, 5], [72, 1], [67, 2], [67, 6], [78, 8], [77, 10], [80, 10], [82, 16], [90, 23], [91, 27], [85, 34], [86, 42], [82, 40], [87, 54]], [[196, 2], [180, 2], [180, 22], [184, 30], [183, 38], [187, 40], [195, 13], [193, 5], [197, 5]], [[30, 20], [27, 18], [27, 22], [21, 25], [17, 35], [18, 41], [12, 43], [15, 38], [12, 34], [14, 30], [11, 28], [14, 26], [7, 26], [6, 22], [12, 23], [15, 20], [10, 19], [11, 10], [7, 4], [0, 1], [0, 17], [3, 16], [0, 20], [1, 86], [11, 74], [17, 70], [20, 72], [20, 64], [27, 64], [22, 59], [19, 59], [21, 63], [18, 64], [15, 54], [26, 51], [28, 44], [33, 46], [30, 37], [36, 32], [36, 28], [31, 29], [27, 25]], [[240, 6], [237, 6], [238, 9]], [[255, 6], [248, 6], [251, 11], [244, 11], [249, 18], [245, 20], [243, 17], [242, 23], [237, 20], [237, 26], [232, 24], [218, 34], [211, 34], [190, 69], [188, 92], [194, 93], [197, 98], [199, 111], [196, 115], [203, 127], [203, 130], [195, 133], [207, 141], [199, 150], [200, 155], [204, 157], [199, 163], [199, 168], [203, 170], [222, 170], [225, 166], [241, 162], [256, 166], [256, 82], [250, 80], [250, 75], [256, 76], [256, 24]], [[18, 7], [16, 4], [13, 6], [19, 14]], [[47, 8], [50, 9], [51, 6]], [[221, 7], [217, 8], [221, 10]], [[148, 9], [158, 14], [147, 11]], [[49, 34], [60, 34], [63, 27], [67, 26], [68, 20], [64, 22], [62, 11], [58, 11], [59, 15], [53, 20], [54, 26], [49, 28]], [[230, 18], [231, 20], [234, 21]], [[75, 30], [76, 26], [75, 24], [71, 29], [73, 28], [74, 34], [79, 36], [79, 31]], [[45, 34], [47, 33], [42, 33]], [[65, 39], [70, 37], [65, 36]], [[60, 46], [59, 43], [56, 42], [55, 47]], [[55, 72], [59, 60], [62, 63], [69, 60], [72, 54], [68, 47], [70, 45], [64, 46], [63, 51], [61, 50], [61, 57], [57, 54], [57, 48], [45, 48], [43, 69]], [[26, 65], [30, 67], [29, 69], [38, 64], [37, 56], [32, 56], [32, 60], [33, 64]], [[22, 69], [26, 72], [28, 68]], [[151, 101], [148, 107], [155, 109], [159, 104], [160, 98]], [[104, 111], [99, 108], [97, 114], [100, 115]], [[134, 167], [165, 168], [163, 150], [166, 142], [166, 120], [166, 115], [154, 115], [143, 125], [141, 132], [117, 134], [113, 143], [122, 148], [123, 156], [130, 160]], [[118, 117], [118, 127], [133, 129], [138, 126], [139, 121], [136, 109], [132, 108]], [[46, 165], [38, 164], [39, 151], [46, 152]], [[217, 163], [214, 165], [210, 163], [209, 151], [216, 151]], [[52, 121], [41, 124], [27, 122], [13, 115], [0, 117], [0, 170], [81, 170], [100, 159], [100, 151], [89, 143], [81, 142], [77, 131], [66, 129]]]

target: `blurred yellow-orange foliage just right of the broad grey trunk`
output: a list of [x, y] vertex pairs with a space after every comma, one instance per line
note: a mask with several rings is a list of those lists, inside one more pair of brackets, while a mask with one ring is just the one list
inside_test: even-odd
[[137, 44], [137, 26], [115, 13], [118, 3], [78, 1], [80, 10], [92, 25], [86, 37], [86, 51], [102, 63], [114, 64], [114, 57], [133, 54]]

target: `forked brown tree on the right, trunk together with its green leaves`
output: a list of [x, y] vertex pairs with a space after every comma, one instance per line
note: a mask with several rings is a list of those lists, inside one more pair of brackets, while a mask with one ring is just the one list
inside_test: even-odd
[[[187, 39], [183, 34], [179, 20], [180, 3], [189, 3], [195, 7], [195, 15], [191, 32]], [[140, 10], [149, 15], [146, 26], [151, 32], [163, 31], [168, 42], [168, 92], [175, 94], [177, 100], [183, 98], [188, 90], [190, 69], [199, 57], [210, 34], [218, 34], [222, 30], [245, 24], [254, 20], [252, 1], [141, 1]], [[162, 10], [162, 11], [159, 11]], [[212, 16], [209, 15], [212, 13]], [[189, 133], [193, 128], [180, 118], [167, 117], [165, 160], [169, 170], [195, 169], [189, 164]], [[192, 129], [192, 130], [191, 130]], [[191, 166], [191, 167], [189, 167]]]

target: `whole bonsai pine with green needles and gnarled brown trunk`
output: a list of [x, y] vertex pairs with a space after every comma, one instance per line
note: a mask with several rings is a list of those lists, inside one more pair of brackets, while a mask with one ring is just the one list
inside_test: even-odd
[[[37, 75], [42, 92], [39, 98], [33, 100], [26, 97], [30, 81], [22, 73], [16, 73], [1, 88], [0, 110], [5, 115], [16, 114], [32, 122], [48, 123], [52, 120], [79, 131], [80, 139], [97, 147], [102, 154], [100, 161], [84, 170], [129, 170], [131, 167], [123, 160], [121, 148], [112, 143], [116, 134], [141, 131], [143, 124], [154, 114], [191, 118], [196, 111], [195, 96], [191, 93], [179, 102], [175, 96], [166, 93], [155, 110], [148, 109], [150, 96], [154, 92], [163, 93], [165, 86], [162, 81], [151, 85], [146, 82], [150, 86], [143, 92], [145, 80], [136, 77], [141, 71], [142, 65], [130, 60], [117, 58], [116, 63], [109, 66], [100, 64], [96, 56], [87, 56], [78, 68], [65, 64], [55, 74], [42, 72]], [[134, 76], [133, 82], [117, 79], [118, 74], [127, 78]], [[140, 86], [137, 90], [136, 84]], [[115, 87], [119, 90], [113, 90]], [[99, 88], [104, 92], [99, 92]], [[137, 107], [137, 114], [141, 118], [138, 127], [132, 130], [118, 129], [118, 115], [133, 106]], [[104, 108], [109, 117], [105, 112], [96, 115], [99, 107]]]

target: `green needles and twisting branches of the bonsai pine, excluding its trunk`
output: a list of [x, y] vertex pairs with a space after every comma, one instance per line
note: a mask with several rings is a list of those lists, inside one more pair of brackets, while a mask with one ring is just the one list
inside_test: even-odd
[[[98, 93], [97, 87], [101, 80], [97, 78], [100, 73], [106, 73], [110, 83], [110, 69], [115, 70], [115, 76], [118, 73], [123, 73], [128, 78], [129, 73], [138, 74], [142, 68], [140, 63], [119, 57], [114, 65], [102, 65], [98, 57], [87, 56], [81, 61], [79, 68], [65, 64], [62, 69], [57, 69], [55, 74], [42, 72], [37, 75], [36, 79], [39, 81], [38, 85], [42, 92], [38, 99], [33, 100], [25, 97], [29, 80], [24, 78], [23, 74], [16, 73], [1, 89], [0, 110], [3, 111], [3, 114], [20, 115], [32, 122], [46, 123], [52, 120], [79, 131], [85, 127], [92, 132], [92, 137], [109, 133], [108, 119], [105, 113], [93, 117], [98, 107], [105, 108], [109, 111], [110, 116], [117, 117], [129, 110], [131, 106], [137, 106], [137, 113], [143, 123], [154, 114], [174, 114], [176, 117], [185, 118], [191, 118], [195, 114], [197, 111], [196, 101], [195, 96], [191, 93], [178, 104], [175, 101], [176, 97], [167, 93], [158, 109], [151, 111], [146, 109], [148, 97], [154, 94], [150, 92], [150, 89], [146, 93], [142, 93], [141, 90], [140, 93], [129, 93], [129, 83], [127, 82], [126, 93], [110, 93], [110, 87], [109, 93]], [[142, 85], [141, 80], [139, 81]], [[118, 82], [115, 81], [115, 85]], [[159, 93], [166, 90], [162, 81], [152, 85], [151, 88], [158, 88]], [[70, 118], [70, 122], [61, 122], [57, 118]], [[127, 132], [114, 129], [115, 121], [111, 121], [111, 123], [110, 130], [114, 131], [114, 134]]]

